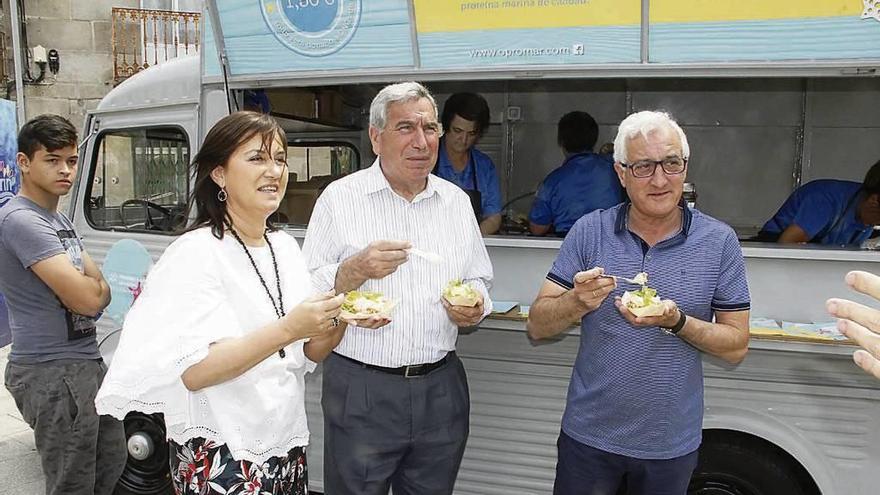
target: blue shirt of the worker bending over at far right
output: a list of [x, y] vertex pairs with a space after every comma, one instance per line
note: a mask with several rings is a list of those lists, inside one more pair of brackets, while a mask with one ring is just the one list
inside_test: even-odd
[[791, 224], [804, 229], [811, 242], [861, 244], [873, 227], [856, 218], [862, 185], [848, 180], [814, 180], [797, 188], [762, 232], [781, 234]]

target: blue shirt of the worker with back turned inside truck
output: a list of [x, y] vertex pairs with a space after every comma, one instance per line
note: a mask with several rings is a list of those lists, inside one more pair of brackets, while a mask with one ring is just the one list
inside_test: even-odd
[[544, 179], [529, 212], [529, 221], [553, 225], [565, 233], [593, 210], [611, 208], [623, 201], [623, 187], [606, 155], [586, 152], [565, 159]]

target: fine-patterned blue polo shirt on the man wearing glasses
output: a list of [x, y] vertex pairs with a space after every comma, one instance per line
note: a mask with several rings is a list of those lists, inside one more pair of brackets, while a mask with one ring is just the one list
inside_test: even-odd
[[[547, 278], [570, 289], [595, 266], [614, 275], [648, 273], [649, 285], [688, 316], [749, 309], [745, 263], [736, 234], [682, 206], [682, 230], [653, 247], [626, 225], [629, 203], [594, 211], [569, 232]], [[621, 285], [581, 321], [562, 430], [578, 442], [639, 459], [672, 459], [700, 446], [700, 351], [659, 328], [630, 325], [614, 307]]]

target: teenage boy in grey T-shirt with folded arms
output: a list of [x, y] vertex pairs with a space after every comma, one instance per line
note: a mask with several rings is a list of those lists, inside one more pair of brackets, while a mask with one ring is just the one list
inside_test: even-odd
[[71, 123], [41, 115], [18, 135], [22, 185], [0, 210], [0, 291], [12, 350], [5, 385], [34, 441], [46, 493], [110, 494], [125, 466], [122, 424], [95, 412], [105, 367], [95, 317], [110, 288], [57, 211], [76, 177]]

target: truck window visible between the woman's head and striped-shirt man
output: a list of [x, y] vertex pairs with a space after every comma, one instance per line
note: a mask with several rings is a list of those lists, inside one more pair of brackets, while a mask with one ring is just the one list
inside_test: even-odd
[[347, 143], [294, 143], [287, 147], [290, 180], [273, 220], [307, 225], [318, 196], [334, 180], [358, 169], [360, 157]]

